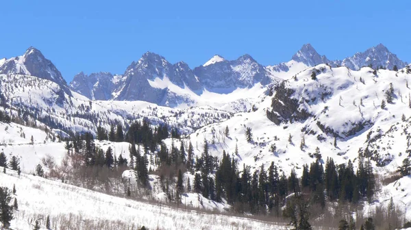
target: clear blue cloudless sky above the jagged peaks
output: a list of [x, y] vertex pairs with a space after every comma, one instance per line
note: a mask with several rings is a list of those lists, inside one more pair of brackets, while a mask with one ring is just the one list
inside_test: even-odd
[[191, 68], [212, 55], [288, 61], [305, 43], [329, 59], [383, 43], [411, 61], [408, 1], [2, 1], [0, 57], [35, 46], [67, 81], [122, 74], [146, 51]]

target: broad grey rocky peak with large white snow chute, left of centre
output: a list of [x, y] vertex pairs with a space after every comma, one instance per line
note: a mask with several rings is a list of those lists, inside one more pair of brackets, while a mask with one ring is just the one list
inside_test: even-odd
[[184, 62], [174, 65], [164, 57], [147, 52], [124, 73], [124, 84], [114, 93], [115, 100], [144, 100], [175, 106], [192, 102], [190, 94], [201, 84]]

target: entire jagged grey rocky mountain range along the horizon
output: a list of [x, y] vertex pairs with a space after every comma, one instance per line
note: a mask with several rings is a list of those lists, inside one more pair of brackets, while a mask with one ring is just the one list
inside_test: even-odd
[[62, 74], [40, 51], [30, 47], [18, 57], [0, 60], [0, 74], [25, 74], [53, 81], [71, 95], [71, 90], [90, 100], [142, 100], [164, 106], [195, 105], [204, 92], [230, 94], [236, 89], [249, 89], [277, 84], [321, 63], [359, 70], [363, 66], [393, 69], [407, 65], [382, 44], [343, 60], [330, 61], [319, 55], [311, 44], [304, 44], [288, 62], [262, 66], [250, 55], [226, 60], [215, 55], [202, 66], [191, 69], [184, 61], [169, 63], [161, 55], [147, 52], [133, 61], [123, 74], [79, 72], [67, 85]]

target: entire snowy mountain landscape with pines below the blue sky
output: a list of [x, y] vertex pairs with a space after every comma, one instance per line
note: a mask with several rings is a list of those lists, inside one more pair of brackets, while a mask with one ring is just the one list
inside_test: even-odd
[[0, 59], [0, 152], [21, 171], [0, 173], [17, 190], [11, 227], [288, 229], [304, 197], [296, 210], [328, 210], [311, 212], [314, 229], [367, 216], [401, 228], [410, 68], [382, 44], [341, 60], [304, 44], [273, 66], [215, 55], [192, 69], [147, 52], [68, 84], [30, 47]]

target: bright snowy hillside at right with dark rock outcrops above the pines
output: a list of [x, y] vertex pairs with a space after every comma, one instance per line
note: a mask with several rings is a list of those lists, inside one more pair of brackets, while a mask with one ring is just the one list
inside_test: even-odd
[[[227, 121], [205, 126], [190, 134], [190, 139], [197, 154], [201, 154], [204, 140], [212, 140], [210, 152], [215, 156], [221, 156], [223, 150], [233, 154], [237, 145], [240, 165], [244, 162], [256, 168], [274, 161], [289, 172], [314, 161], [312, 154], [319, 147], [323, 159], [332, 157], [338, 163], [368, 151], [375, 164], [395, 171], [409, 152], [410, 75], [405, 70], [373, 72], [371, 68], [354, 71], [325, 64], [309, 68], [273, 88], [273, 96], [262, 96], [254, 106], [256, 111], [236, 113]], [[382, 109], [390, 83], [394, 100]], [[225, 127], [229, 127], [227, 137]], [[252, 129], [252, 142], [246, 141], [247, 127]]]

